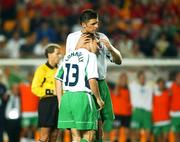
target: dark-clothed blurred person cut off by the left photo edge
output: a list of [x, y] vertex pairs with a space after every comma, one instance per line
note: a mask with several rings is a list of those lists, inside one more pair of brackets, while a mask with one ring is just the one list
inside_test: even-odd
[[3, 142], [3, 132], [5, 128], [5, 106], [7, 101], [7, 87], [2, 81], [3, 71], [0, 69], [0, 142]]

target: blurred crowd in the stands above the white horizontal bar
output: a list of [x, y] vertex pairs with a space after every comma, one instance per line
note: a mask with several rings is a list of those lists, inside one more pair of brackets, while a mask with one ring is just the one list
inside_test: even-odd
[[180, 55], [179, 0], [1, 0], [0, 57], [40, 57], [48, 42], [64, 44], [87, 8], [123, 57]]

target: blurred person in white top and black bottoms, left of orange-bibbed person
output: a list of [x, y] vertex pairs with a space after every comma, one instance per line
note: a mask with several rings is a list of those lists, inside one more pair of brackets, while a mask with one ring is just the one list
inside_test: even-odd
[[18, 84], [13, 84], [10, 89], [5, 110], [6, 131], [9, 142], [19, 142], [21, 131], [21, 103], [19, 97], [19, 86]]

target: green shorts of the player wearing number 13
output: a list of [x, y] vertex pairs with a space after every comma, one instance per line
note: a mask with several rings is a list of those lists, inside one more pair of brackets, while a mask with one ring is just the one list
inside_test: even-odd
[[61, 98], [58, 128], [97, 130], [98, 111], [92, 95], [67, 91]]

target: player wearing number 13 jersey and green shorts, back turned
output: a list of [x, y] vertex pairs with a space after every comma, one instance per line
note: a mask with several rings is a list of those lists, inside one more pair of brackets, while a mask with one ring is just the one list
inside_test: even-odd
[[73, 141], [78, 142], [93, 141], [98, 128], [98, 110], [92, 94], [99, 109], [104, 106], [97, 82], [97, 57], [91, 53], [98, 50], [91, 45], [88, 50], [79, 48], [66, 54], [56, 74], [56, 93], [60, 105], [58, 128], [71, 129]]

